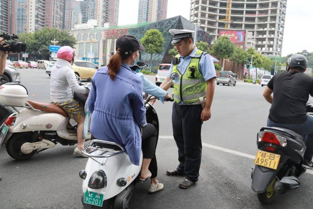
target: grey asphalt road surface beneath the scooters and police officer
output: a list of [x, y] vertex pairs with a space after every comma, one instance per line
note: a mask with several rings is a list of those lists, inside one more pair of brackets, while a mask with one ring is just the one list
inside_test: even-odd
[[[29, 99], [49, 102], [49, 76], [44, 70], [21, 69]], [[154, 81], [153, 76], [147, 76]], [[157, 148], [159, 180], [164, 190], [148, 194], [148, 182], [136, 185], [130, 208], [287, 209], [312, 208], [313, 175], [300, 177], [301, 185], [277, 195], [262, 206], [251, 190], [250, 172], [256, 154], [256, 133], [266, 125], [270, 105], [262, 97], [264, 87], [246, 83], [215, 86], [212, 117], [203, 123], [203, 154], [198, 183], [188, 190], [178, 187], [182, 177], [165, 175], [176, 168], [177, 147], [172, 139], [172, 103], [156, 102], [160, 121]], [[169, 90], [172, 93], [172, 89]], [[0, 208], [82, 208], [82, 180], [78, 172], [87, 159], [73, 156], [75, 146], [57, 145], [32, 159], [16, 161], [0, 149]]]

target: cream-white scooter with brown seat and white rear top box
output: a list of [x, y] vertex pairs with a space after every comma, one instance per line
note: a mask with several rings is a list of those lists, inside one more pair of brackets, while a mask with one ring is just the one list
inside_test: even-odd
[[[85, 85], [79, 77], [78, 83]], [[85, 104], [88, 94], [74, 95], [75, 99]], [[53, 148], [57, 143], [77, 144], [77, 127], [70, 125], [70, 118], [61, 107], [26, 100], [27, 97], [28, 91], [23, 85], [6, 83], [0, 86], [0, 103], [16, 111], [4, 122], [8, 131], [3, 144], [6, 144], [12, 158], [29, 159], [34, 154]], [[90, 138], [89, 133], [86, 140]]]

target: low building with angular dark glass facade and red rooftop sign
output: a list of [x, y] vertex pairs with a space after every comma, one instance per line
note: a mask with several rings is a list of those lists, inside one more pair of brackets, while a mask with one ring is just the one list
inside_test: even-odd
[[[159, 65], [161, 63], [171, 63], [172, 58], [168, 55], [168, 50], [173, 48], [172, 35], [168, 32], [170, 29], [186, 29], [195, 30], [195, 25], [186, 18], [177, 16], [168, 18], [151, 24], [142, 23], [137, 25], [119, 25], [111, 26], [109, 28], [95, 28], [95, 29], [77, 29], [70, 31], [77, 40], [76, 51], [79, 59], [100, 58], [99, 65], [107, 65], [110, 57], [116, 53], [116, 39], [118, 37], [131, 34], [135, 36], [139, 42], [149, 29], [158, 29], [162, 33], [164, 39], [163, 51], [160, 54], [152, 55], [152, 65]], [[90, 42], [88, 38], [96, 39], [93, 42], [92, 52], [90, 53]], [[211, 44], [213, 36], [205, 32], [200, 27], [197, 27], [197, 41], [207, 42]], [[141, 59], [150, 65], [150, 54], [141, 52]]]

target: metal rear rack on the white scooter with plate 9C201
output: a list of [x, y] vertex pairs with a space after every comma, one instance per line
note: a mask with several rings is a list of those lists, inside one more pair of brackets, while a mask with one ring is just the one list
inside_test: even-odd
[[[116, 148], [118, 148], [120, 150], [102, 147], [102, 146], [99, 146], [99, 144], [104, 145], [104, 146], [107, 145], [110, 147], [112, 147], [112, 145], [113, 145], [113, 146], [116, 146]], [[86, 151], [87, 149], [90, 149], [90, 151], [87, 152]], [[102, 151], [102, 152], [100, 154], [94, 154], [96, 151]], [[89, 145], [82, 150], [82, 153], [84, 155], [90, 157], [93, 160], [95, 160], [94, 158], [109, 158], [109, 157], [115, 156], [117, 154], [122, 154], [122, 153], [127, 154], [125, 148], [123, 146], [121, 146], [121, 144], [103, 141], [103, 140], [99, 140], [99, 139], [91, 140]], [[99, 162], [97, 160], [95, 160], [95, 161], [98, 162], [100, 165], [104, 165], [103, 162]]]

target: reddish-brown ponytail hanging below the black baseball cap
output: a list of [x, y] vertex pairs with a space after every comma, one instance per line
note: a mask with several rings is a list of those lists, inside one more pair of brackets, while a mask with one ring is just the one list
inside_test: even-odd
[[107, 65], [110, 75], [110, 79], [114, 80], [116, 73], [120, 70], [121, 63], [123, 60], [128, 58], [130, 55], [125, 55], [125, 52], [122, 48], [116, 49], [116, 54], [113, 55], [109, 61], [109, 64]]

